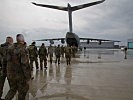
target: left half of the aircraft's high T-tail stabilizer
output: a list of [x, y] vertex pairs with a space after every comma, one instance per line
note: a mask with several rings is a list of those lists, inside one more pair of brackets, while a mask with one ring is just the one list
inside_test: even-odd
[[67, 7], [62, 7], [62, 6], [53, 6], [53, 5], [45, 5], [45, 4], [37, 4], [35, 2], [32, 2], [32, 4], [36, 6], [41, 6], [41, 7], [47, 7], [47, 8], [53, 8], [53, 9], [58, 9], [58, 10], [63, 10], [67, 11]]

